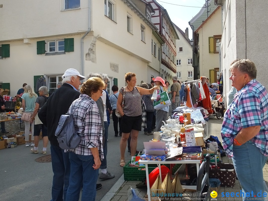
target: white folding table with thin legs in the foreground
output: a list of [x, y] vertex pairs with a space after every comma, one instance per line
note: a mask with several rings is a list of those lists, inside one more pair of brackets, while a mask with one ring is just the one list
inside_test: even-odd
[[[163, 161], [144, 161], [144, 160], [139, 160], [139, 163], [144, 164], [145, 165], [145, 171], [146, 171], [146, 180], [147, 180], [147, 195], [148, 195], [148, 200], [151, 200], [151, 193], [150, 193], [150, 183], [149, 183], [149, 172], [148, 172], [148, 164], [157, 164], [158, 168], [159, 168], [159, 175], [161, 175], [161, 164], [192, 164], [195, 163], [196, 164], [196, 170], [197, 172], [199, 172], [199, 164], [202, 163], [202, 160], [174, 160], [174, 159], [166, 159]], [[181, 185], [182, 188], [186, 188], [189, 186], [186, 185]], [[196, 186], [192, 186], [195, 187], [193, 188], [194, 190], [196, 190]]]

